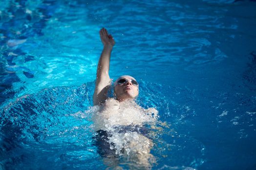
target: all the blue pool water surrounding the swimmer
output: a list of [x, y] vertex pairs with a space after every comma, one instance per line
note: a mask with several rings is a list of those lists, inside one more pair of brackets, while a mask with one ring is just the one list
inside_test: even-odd
[[0, 169], [108, 168], [90, 112], [102, 27], [110, 77], [159, 110], [152, 169], [256, 169], [253, 0], [0, 1]]

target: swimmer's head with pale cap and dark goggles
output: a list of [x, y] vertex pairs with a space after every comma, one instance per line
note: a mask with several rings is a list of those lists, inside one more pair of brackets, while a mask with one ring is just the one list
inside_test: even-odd
[[114, 91], [118, 101], [134, 99], [139, 95], [139, 85], [133, 84], [134, 81], [136, 80], [128, 75], [123, 75], [115, 81]]

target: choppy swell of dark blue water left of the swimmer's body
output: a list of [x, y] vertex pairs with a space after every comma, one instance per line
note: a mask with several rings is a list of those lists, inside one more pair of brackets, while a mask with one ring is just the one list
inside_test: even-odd
[[86, 85], [44, 89], [4, 107], [2, 168], [91, 168], [85, 161], [96, 166], [100, 160], [95, 160], [92, 123], [89, 116], [79, 112], [90, 105], [87, 91]]

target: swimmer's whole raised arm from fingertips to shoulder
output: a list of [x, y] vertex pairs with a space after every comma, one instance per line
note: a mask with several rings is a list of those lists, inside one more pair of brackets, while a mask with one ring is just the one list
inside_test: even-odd
[[96, 85], [93, 94], [93, 105], [103, 104], [107, 99], [107, 91], [110, 87], [110, 78], [108, 75], [110, 54], [115, 45], [112, 35], [107, 33], [105, 28], [100, 30], [100, 37], [104, 46], [97, 67]]

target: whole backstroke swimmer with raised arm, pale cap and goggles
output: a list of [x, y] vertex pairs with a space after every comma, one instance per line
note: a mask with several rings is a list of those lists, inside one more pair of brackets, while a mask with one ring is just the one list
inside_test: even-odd
[[[105, 28], [100, 30], [100, 37], [104, 48], [98, 62], [93, 94], [93, 104], [100, 108], [93, 116], [94, 128], [98, 132], [98, 145], [102, 147], [105, 158], [122, 154], [131, 162], [135, 161], [140, 168], [150, 169], [150, 160], [154, 159], [150, 154], [153, 143], [142, 132], [142, 125], [155, 121], [158, 111], [155, 108], [143, 109], [136, 104], [134, 99], [139, 95], [139, 84], [128, 75], [123, 75], [114, 82], [114, 98], [108, 97], [111, 87], [109, 62], [115, 40]], [[153, 114], [154, 118], [147, 113]], [[113, 133], [114, 131], [119, 133]]]

